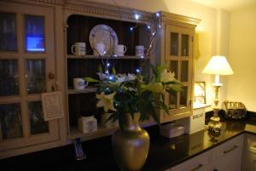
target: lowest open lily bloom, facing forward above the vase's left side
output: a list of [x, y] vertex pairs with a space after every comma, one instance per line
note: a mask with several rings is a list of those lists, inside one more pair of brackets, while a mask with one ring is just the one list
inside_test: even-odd
[[96, 107], [103, 107], [104, 111], [108, 111], [109, 109], [112, 111], [116, 111], [116, 109], [113, 106], [113, 96], [115, 94], [116, 92], [108, 95], [104, 92], [102, 92], [101, 94], [96, 94], [96, 98], [99, 100], [96, 104]]

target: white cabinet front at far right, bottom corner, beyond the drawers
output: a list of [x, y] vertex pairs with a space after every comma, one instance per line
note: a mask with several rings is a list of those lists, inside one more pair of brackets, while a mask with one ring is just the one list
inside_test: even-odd
[[256, 135], [245, 135], [245, 148], [243, 157], [243, 170], [256, 170]]

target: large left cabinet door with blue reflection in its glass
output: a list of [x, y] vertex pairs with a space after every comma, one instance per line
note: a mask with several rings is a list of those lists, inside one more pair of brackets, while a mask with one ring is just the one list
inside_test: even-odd
[[0, 153], [58, 139], [41, 93], [54, 89], [52, 9], [0, 2]]

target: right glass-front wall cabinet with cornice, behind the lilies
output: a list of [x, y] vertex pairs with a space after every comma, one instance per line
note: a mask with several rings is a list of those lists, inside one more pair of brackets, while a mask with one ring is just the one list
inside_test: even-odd
[[183, 83], [183, 91], [167, 94], [165, 102], [170, 115], [160, 111], [160, 123], [166, 123], [192, 114], [193, 45], [195, 26], [200, 20], [177, 14], [160, 12], [161, 63], [166, 63], [175, 78]]

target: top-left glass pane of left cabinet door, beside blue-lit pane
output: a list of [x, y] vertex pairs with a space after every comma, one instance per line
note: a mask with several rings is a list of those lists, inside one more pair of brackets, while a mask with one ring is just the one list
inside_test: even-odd
[[16, 14], [0, 12], [0, 51], [17, 51]]

